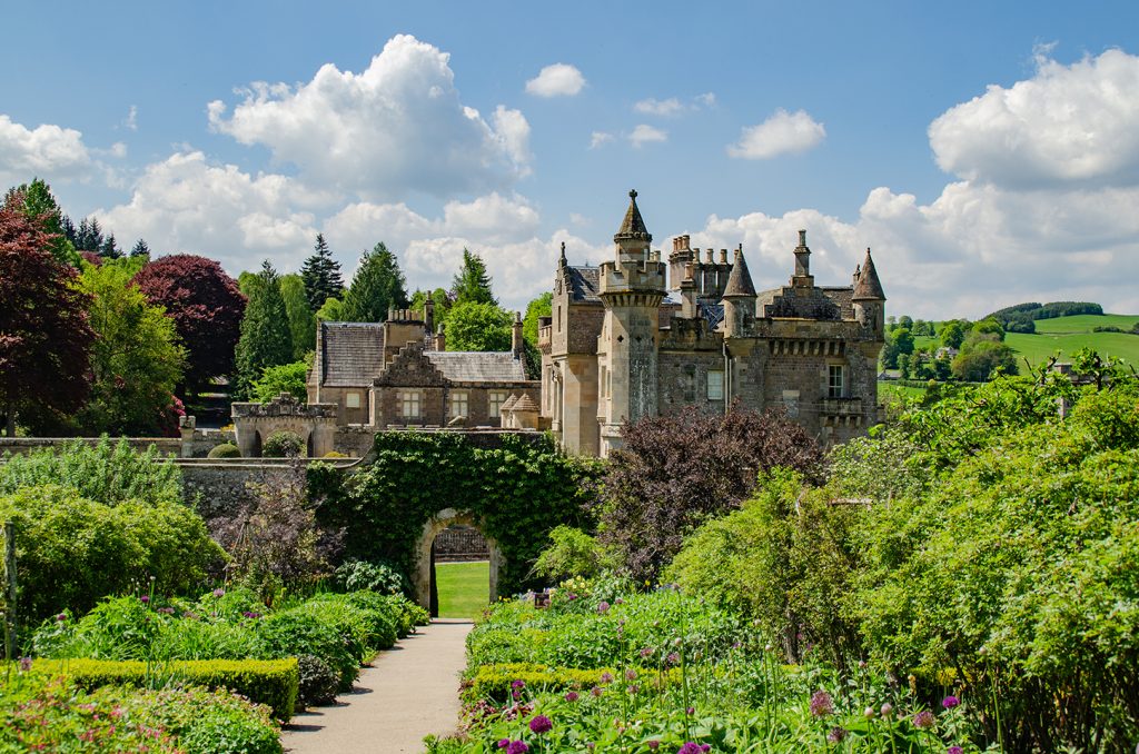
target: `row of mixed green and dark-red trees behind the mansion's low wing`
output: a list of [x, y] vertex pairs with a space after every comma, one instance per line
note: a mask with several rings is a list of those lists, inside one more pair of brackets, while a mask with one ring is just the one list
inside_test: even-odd
[[[450, 289], [407, 292], [380, 241], [349, 285], [318, 235], [300, 273], [265, 260], [231, 278], [211, 259], [151, 260], [139, 239], [124, 254], [96, 218], [76, 226], [42, 180], [11, 188], [0, 206], [0, 417], [40, 436], [177, 434], [183, 400], [226, 383], [237, 400], [305, 396], [320, 320], [380, 322], [392, 309], [423, 313], [429, 298], [452, 351], [510, 349], [514, 317], [494, 296], [482, 257], [464, 249]], [[526, 312], [536, 372], [538, 317]]]

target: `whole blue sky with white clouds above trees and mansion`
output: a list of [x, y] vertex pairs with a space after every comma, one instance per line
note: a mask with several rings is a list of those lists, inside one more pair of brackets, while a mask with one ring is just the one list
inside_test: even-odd
[[[198, 2], [5, 9], [0, 185], [129, 248], [409, 290], [464, 247], [501, 303], [613, 255], [743, 244], [785, 285], [866, 248], [887, 313], [1139, 312], [1139, 3]], [[2, 273], [2, 272], [0, 272]]]

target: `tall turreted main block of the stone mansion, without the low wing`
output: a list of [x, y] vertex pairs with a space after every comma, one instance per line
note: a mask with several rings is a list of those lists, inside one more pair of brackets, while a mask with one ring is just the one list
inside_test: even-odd
[[540, 407], [567, 451], [608, 456], [625, 421], [686, 405], [780, 407], [823, 443], [879, 420], [886, 298], [869, 249], [850, 286], [816, 286], [800, 231], [788, 285], [756, 293], [743, 246], [700, 259], [680, 236], [664, 262], [652, 240], [631, 191], [613, 260], [573, 267], [563, 247]]

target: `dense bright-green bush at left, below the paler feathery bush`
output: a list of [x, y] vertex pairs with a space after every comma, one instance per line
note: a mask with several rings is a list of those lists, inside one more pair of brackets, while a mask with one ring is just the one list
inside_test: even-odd
[[153, 576], [158, 592], [188, 591], [224, 557], [181, 503], [110, 507], [41, 485], [0, 498], [0, 519], [16, 525], [19, 605], [34, 620], [64, 607], [85, 612], [132, 579]]

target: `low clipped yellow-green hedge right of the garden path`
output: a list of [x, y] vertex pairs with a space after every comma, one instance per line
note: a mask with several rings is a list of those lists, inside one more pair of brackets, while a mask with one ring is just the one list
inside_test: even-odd
[[467, 702], [478, 699], [493, 699], [506, 703], [510, 699], [510, 685], [514, 681], [522, 681], [526, 688], [533, 691], [568, 691], [591, 689], [600, 686], [601, 675], [608, 673], [615, 680], [614, 683], [637, 683], [640, 686], [680, 683], [680, 669], [673, 667], [662, 673], [655, 667], [634, 667], [637, 678], [633, 681], [622, 677], [624, 671], [615, 667], [593, 667], [581, 670], [576, 667], [551, 667], [533, 663], [502, 663], [498, 665], [482, 665], [474, 677], [464, 681], [462, 696]]

